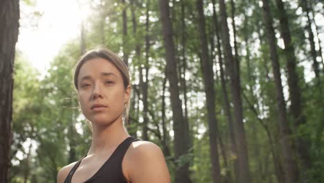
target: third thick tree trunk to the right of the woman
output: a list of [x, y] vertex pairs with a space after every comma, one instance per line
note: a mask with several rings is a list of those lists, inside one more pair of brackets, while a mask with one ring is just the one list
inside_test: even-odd
[[240, 88], [240, 75], [235, 69], [235, 60], [229, 41], [226, 6], [224, 0], [219, 0], [219, 12], [222, 25], [222, 45], [226, 61], [226, 72], [231, 79], [231, 93], [235, 110], [235, 141], [237, 143], [237, 157], [239, 162], [239, 176], [237, 180], [242, 183], [250, 182], [249, 161], [246, 149], [246, 139], [243, 123], [242, 98]]

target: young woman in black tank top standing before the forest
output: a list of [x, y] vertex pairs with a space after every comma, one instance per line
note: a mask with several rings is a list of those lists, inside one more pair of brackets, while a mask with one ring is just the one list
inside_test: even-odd
[[131, 85], [123, 61], [106, 49], [89, 51], [78, 62], [74, 85], [92, 143], [87, 155], [60, 170], [57, 182], [170, 182], [161, 149], [124, 128]]

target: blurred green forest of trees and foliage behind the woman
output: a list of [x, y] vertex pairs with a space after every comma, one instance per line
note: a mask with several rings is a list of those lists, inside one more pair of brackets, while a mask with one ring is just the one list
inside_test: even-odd
[[[20, 3], [33, 10], [33, 1]], [[323, 0], [78, 4], [91, 14], [46, 71], [16, 50], [4, 182], [55, 182], [87, 153], [91, 132], [72, 75], [84, 50], [98, 46], [128, 64], [129, 134], [161, 147], [172, 182], [323, 182]], [[2, 130], [0, 146], [10, 137]]]

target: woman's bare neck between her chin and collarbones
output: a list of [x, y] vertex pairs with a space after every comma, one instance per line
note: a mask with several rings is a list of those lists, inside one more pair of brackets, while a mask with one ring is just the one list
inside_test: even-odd
[[110, 125], [96, 125], [92, 123], [92, 127], [92, 142], [88, 155], [98, 154], [103, 150], [114, 148], [129, 137], [121, 116]]

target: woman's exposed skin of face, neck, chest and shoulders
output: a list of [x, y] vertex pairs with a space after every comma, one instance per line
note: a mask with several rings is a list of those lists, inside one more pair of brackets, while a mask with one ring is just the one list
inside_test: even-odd
[[[117, 146], [129, 137], [123, 126], [123, 110], [131, 94], [124, 87], [118, 69], [102, 58], [85, 62], [78, 76], [78, 101], [84, 116], [91, 121], [92, 143], [71, 182], [88, 180], [111, 156]], [[57, 183], [64, 182], [76, 162], [64, 166]], [[132, 183], [170, 182], [170, 173], [159, 146], [149, 141], [134, 141], [122, 162], [123, 175]], [[109, 182], [109, 180], [107, 180]]]

